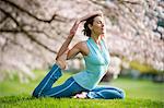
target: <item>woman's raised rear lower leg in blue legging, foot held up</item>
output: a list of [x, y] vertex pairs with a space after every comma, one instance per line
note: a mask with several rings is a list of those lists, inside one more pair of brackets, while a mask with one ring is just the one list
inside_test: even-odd
[[61, 69], [54, 64], [48, 74], [43, 79], [43, 81], [38, 84], [38, 86], [34, 89], [33, 96], [40, 97], [44, 92], [51, 88], [52, 84], [62, 75]]

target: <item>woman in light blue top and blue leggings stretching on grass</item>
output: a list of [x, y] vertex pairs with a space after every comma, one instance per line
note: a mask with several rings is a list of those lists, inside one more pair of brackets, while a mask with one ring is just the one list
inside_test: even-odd
[[[84, 23], [85, 41], [78, 43], [68, 49], [75, 35], [78, 26]], [[66, 68], [66, 60], [82, 53], [85, 60], [85, 70], [69, 77], [63, 84], [52, 87], [52, 84], [61, 76], [61, 70]], [[105, 24], [103, 14], [95, 12], [77, 20], [70, 34], [61, 46], [52, 69], [33, 92], [34, 97], [74, 97], [74, 98], [124, 98], [121, 89], [110, 86], [97, 86], [109, 65], [109, 55], [105, 45]]]

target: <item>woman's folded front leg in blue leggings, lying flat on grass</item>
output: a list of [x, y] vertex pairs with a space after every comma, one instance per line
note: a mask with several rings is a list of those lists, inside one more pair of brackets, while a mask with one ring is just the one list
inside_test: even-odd
[[89, 98], [99, 98], [99, 99], [114, 99], [114, 98], [125, 98], [125, 92], [117, 87], [112, 86], [99, 86], [86, 95]]

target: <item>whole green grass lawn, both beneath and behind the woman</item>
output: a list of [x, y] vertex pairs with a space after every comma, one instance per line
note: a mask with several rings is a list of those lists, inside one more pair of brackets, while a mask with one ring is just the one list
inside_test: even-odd
[[[130, 79], [117, 79], [110, 83], [101, 83], [125, 89], [125, 99], [33, 98], [31, 97], [33, 89], [46, 74], [43, 71], [35, 73], [36, 80], [28, 84], [20, 84], [17, 80], [1, 82], [0, 108], [164, 108], [164, 84]], [[63, 74], [56, 85], [61, 84], [70, 76], [68, 73]]]

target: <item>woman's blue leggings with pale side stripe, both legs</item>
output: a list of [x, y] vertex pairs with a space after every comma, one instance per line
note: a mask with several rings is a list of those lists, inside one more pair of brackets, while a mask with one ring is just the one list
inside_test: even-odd
[[109, 86], [97, 86], [96, 88], [89, 91], [80, 86], [73, 77], [69, 77], [63, 84], [52, 87], [52, 84], [62, 75], [61, 69], [54, 64], [52, 69], [44, 77], [44, 80], [34, 89], [34, 97], [72, 97], [75, 94], [86, 92], [87, 98], [102, 98], [102, 99], [114, 99], [125, 98], [125, 93], [116, 87]]

